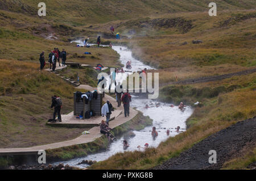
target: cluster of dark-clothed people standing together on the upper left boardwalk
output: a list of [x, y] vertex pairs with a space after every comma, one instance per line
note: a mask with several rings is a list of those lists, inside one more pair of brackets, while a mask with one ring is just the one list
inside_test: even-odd
[[[62, 60], [62, 66], [65, 66], [65, 62], [67, 60], [67, 52], [65, 51], [65, 49], [62, 49], [62, 52], [60, 52], [59, 48], [54, 48], [51, 51], [51, 53], [49, 53], [49, 56], [48, 56], [48, 62], [50, 65], [49, 69], [52, 69], [53, 72], [55, 71], [57, 61], [59, 62], [59, 66], [60, 66], [60, 58]], [[40, 61], [40, 69], [42, 70], [46, 65], [46, 60], [44, 58], [44, 51], [40, 54], [39, 61]]]

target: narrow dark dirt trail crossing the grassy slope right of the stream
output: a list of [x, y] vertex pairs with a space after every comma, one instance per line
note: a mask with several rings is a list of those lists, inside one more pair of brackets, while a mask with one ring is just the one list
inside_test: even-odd
[[214, 75], [214, 76], [209, 76], [209, 77], [192, 78], [192, 79], [186, 79], [184, 81], [178, 81], [178, 82], [167, 82], [167, 83], [160, 84], [159, 87], [173, 85], [173, 84], [192, 84], [192, 83], [201, 83], [201, 82], [220, 81], [222, 79], [230, 78], [230, 77], [233, 77], [233, 76], [236, 76], [236, 75], [252, 74], [255, 71], [256, 71], [256, 68], [249, 69], [249, 70], [238, 71], [238, 72], [229, 73], [229, 74], [223, 74], [223, 75]]

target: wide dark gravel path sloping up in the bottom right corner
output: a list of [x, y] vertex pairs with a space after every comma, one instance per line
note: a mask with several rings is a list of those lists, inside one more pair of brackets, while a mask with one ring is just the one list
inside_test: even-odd
[[[171, 158], [154, 169], [221, 169], [226, 161], [241, 155], [244, 149], [255, 148], [255, 146], [256, 116], [214, 133], [192, 146], [191, 149], [183, 151], [179, 157]], [[209, 163], [209, 150], [216, 150], [217, 163]]]

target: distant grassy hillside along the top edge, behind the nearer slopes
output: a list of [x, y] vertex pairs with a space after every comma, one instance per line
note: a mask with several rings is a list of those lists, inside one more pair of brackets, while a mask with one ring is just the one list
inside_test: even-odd
[[[37, 16], [38, 3], [40, 1], [32, 0], [3, 0], [1, 9], [24, 13], [26, 15]], [[130, 19], [135, 16], [144, 16], [145, 14], [162, 14], [166, 12], [179, 11], [208, 11], [210, 1], [177, 1], [177, 0], [143, 0], [143, 1], [124, 1], [124, 0], [94, 0], [94, 1], [44, 1], [47, 6], [46, 19], [55, 22], [69, 23], [71, 26], [81, 26], [89, 23], [105, 23], [110, 20]], [[253, 9], [255, 1], [253, 0], [234, 0], [214, 1], [218, 5], [218, 10], [237, 10]]]

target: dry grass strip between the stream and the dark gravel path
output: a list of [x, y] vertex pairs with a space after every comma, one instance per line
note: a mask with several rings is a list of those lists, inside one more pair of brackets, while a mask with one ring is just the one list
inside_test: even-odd
[[204, 99], [204, 106], [197, 107], [187, 120], [189, 129], [162, 142], [158, 148], [150, 148], [143, 152], [118, 153], [106, 161], [98, 162], [90, 169], [150, 169], [168, 158], [176, 157], [181, 151], [191, 148], [193, 144], [210, 134], [237, 121], [255, 116], [255, 82], [252, 84], [247, 88]]

